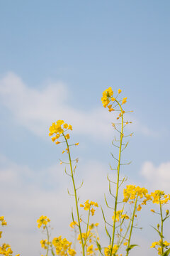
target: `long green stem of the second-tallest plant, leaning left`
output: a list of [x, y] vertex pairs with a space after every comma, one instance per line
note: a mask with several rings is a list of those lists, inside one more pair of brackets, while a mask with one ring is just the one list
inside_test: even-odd
[[[64, 133], [62, 134], [64, 136]], [[77, 218], [78, 218], [78, 223], [79, 223], [79, 233], [80, 233], [80, 238], [81, 238], [81, 247], [83, 250], [83, 256], [85, 256], [85, 250], [84, 250], [84, 241], [83, 241], [83, 237], [82, 237], [82, 233], [81, 233], [81, 225], [80, 225], [80, 218], [79, 218], [79, 206], [78, 206], [78, 199], [77, 199], [77, 190], [76, 190], [76, 186], [75, 186], [75, 182], [74, 182], [74, 174], [73, 174], [73, 169], [72, 169], [72, 159], [70, 156], [70, 152], [69, 152], [69, 144], [67, 142], [66, 137], [64, 136], [65, 142], [67, 144], [67, 149], [68, 149], [68, 154], [69, 154], [69, 166], [70, 166], [70, 170], [71, 170], [71, 176], [72, 176], [72, 183], [74, 186], [74, 197], [75, 197], [75, 201], [76, 201], [76, 208], [77, 208]]]

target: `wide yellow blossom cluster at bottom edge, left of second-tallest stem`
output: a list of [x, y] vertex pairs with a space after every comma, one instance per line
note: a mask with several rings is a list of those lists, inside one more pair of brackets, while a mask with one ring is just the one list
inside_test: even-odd
[[52, 245], [55, 246], [56, 255], [60, 255], [60, 256], [76, 255], [76, 251], [71, 248], [72, 242], [67, 241], [66, 238], [62, 239], [61, 235], [60, 235], [60, 237], [54, 238], [52, 240]]

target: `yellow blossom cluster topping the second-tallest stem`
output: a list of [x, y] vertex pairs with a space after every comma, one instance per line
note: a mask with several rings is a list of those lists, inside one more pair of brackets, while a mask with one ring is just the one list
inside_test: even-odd
[[[55, 137], [52, 137], [52, 142], [55, 142], [56, 139], [59, 139], [61, 136], [64, 136], [65, 139], [69, 139], [69, 134], [64, 134], [64, 132], [67, 132], [68, 130], [72, 130], [72, 125], [64, 123], [63, 120], [58, 120], [57, 122], [53, 122], [50, 126], [50, 133], [49, 136], [52, 136], [55, 134]], [[55, 144], [60, 144], [60, 142], [57, 140]]]

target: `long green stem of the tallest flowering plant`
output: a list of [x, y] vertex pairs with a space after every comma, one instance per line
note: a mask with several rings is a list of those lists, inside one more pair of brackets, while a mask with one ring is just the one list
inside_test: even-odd
[[114, 239], [115, 239], [115, 220], [116, 220], [116, 211], [117, 211], [117, 205], [118, 205], [118, 189], [119, 189], [119, 176], [120, 176], [120, 156], [121, 156], [121, 150], [122, 150], [122, 141], [123, 141], [123, 109], [120, 105], [120, 103], [115, 100], [121, 110], [121, 117], [122, 117], [122, 122], [121, 122], [121, 132], [120, 132], [120, 146], [119, 146], [119, 157], [118, 157], [118, 178], [117, 178], [117, 185], [116, 185], [116, 194], [115, 194], [115, 208], [114, 208], [114, 220], [113, 220], [113, 233], [112, 233], [112, 240], [111, 240], [111, 253], [110, 256], [112, 255], [113, 251], [113, 244], [114, 244]]

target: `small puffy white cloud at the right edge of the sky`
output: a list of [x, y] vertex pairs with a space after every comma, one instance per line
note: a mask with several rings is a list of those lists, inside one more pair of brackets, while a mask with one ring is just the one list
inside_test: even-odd
[[146, 186], [155, 190], [161, 189], [169, 193], [170, 162], [154, 166], [151, 161], [147, 161], [142, 166], [141, 174], [146, 178]]

